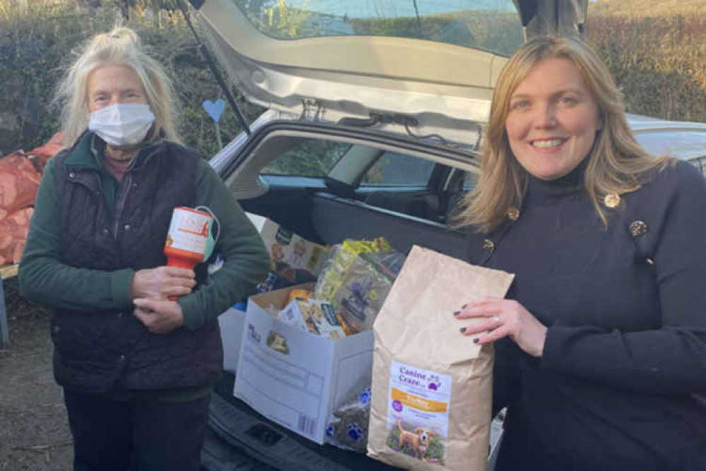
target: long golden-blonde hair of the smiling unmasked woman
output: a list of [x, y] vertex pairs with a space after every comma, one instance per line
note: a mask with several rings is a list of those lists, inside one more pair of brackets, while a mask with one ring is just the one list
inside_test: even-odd
[[664, 168], [671, 158], [654, 158], [637, 144], [625, 116], [623, 98], [604, 62], [575, 37], [536, 37], [520, 47], [505, 64], [493, 91], [488, 130], [481, 151], [478, 185], [466, 195], [459, 215], [461, 226], [488, 232], [505, 219], [511, 207], [522, 207], [528, 175], [512, 155], [505, 121], [512, 92], [543, 59], [569, 59], [579, 70], [596, 102], [602, 129], [587, 157], [584, 187], [596, 213], [607, 226], [599, 203], [606, 194], [624, 194], [640, 188], [648, 170]]

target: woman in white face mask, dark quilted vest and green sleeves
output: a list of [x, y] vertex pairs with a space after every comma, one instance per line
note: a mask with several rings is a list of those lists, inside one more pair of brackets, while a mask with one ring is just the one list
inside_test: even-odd
[[[68, 147], [45, 168], [19, 281], [54, 309], [74, 469], [198, 470], [222, 367], [216, 318], [264, 276], [266, 250], [218, 175], [179, 143], [170, 82], [133, 31], [90, 40], [60, 98]], [[218, 219], [217, 272], [165, 266], [177, 206]]]

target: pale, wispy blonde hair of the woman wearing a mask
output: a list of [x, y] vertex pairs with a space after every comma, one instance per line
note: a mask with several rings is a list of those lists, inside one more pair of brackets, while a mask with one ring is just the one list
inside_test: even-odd
[[107, 64], [127, 66], [139, 77], [147, 104], [155, 115], [154, 126], [146, 139], [157, 139], [160, 132], [164, 132], [170, 141], [181, 143], [175, 123], [177, 102], [170, 79], [159, 62], [145, 52], [138, 35], [129, 28], [117, 26], [110, 33], [95, 35], [86, 42], [57, 87], [54, 100], [62, 107], [64, 146], [72, 146], [88, 128], [88, 78], [95, 69]]

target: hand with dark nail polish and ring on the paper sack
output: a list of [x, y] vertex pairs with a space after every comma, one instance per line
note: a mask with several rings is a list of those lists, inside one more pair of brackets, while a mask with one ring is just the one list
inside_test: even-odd
[[509, 336], [527, 354], [542, 356], [547, 327], [513, 299], [483, 298], [466, 304], [454, 316], [457, 319], [485, 318], [484, 322], [461, 327], [463, 335], [490, 330], [473, 339], [476, 344], [487, 344]]

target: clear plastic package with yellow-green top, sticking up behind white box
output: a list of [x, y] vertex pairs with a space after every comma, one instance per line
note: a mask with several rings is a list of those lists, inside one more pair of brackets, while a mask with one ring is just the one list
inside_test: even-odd
[[319, 277], [316, 298], [329, 301], [351, 332], [371, 330], [403, 263], [384, 238], [344, 240]]

